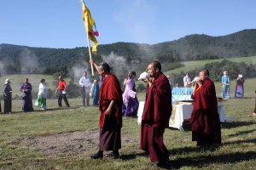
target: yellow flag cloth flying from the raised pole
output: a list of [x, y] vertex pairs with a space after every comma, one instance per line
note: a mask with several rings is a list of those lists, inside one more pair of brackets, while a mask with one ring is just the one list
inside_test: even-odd
[[95, 36], [98, 35], [99, 33], [98, 31], [93, 31], [93, 26], [95, 26], [95, 22], [90, 15], [89, 8], [85, 6], [84, 0], [82, 2], [82, 9], [83, 9], [83, 19], [84, 19], [85, 30], [87, 31], [90, 41], [93, 42], [91, 51], [92, 53], [96, 54], [98, 42]]

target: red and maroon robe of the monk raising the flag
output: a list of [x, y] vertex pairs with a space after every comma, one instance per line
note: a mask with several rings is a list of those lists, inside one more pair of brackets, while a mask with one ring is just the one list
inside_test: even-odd
[[[106, 115], [111, 100], [115, 100], [112, 113]], [[121, 127], [122, 127], [122, 91], [119, 80], [113, 74], [104, 77], [102, 82], [99, 110], [100, 142], [99, 150], [119, 150], [121, 148]]]

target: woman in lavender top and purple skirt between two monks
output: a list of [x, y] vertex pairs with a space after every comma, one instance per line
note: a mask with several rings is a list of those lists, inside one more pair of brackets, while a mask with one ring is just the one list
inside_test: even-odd
[[123, 94], [123, 115], [124, 116], [137, 116], [138, 100], [137, 90], [134, 82], [136, 72], [131, 71], [128, 73], [128, 77], [125, 78], [125, 92]]

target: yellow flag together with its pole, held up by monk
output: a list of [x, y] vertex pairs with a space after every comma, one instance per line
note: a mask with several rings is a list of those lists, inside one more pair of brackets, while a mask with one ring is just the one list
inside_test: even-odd
[[[98, 31], [93, 31], [93, 26], [95, 26], [95, 28], [96, 28], [95, 21], [92, 19], [91, 15], [90, 15], [89, 8], [87, 8], [85, 6], [84, 0], [81, 0], [81, 3], [82, 3], [82, 9], [83, 9], [84, 26], [85, 26], [86, 35], [87, 35], [88, 50], [89, 50], [89, 55], [90, 55], [90, 59], [91, 59], [90, 41], [93, 42], [91, 51], [92, 51], [93, 54], [96, 54], [97, 45], [98, 45], [98, 42], [96, 40], [96, 36], [99, 36], [99, 32]], [[91, 68], [91, 76], [94, 76], [94, 71], [93, 71], [93, 65], [92, 64], [90, 64], [90, 68]]]

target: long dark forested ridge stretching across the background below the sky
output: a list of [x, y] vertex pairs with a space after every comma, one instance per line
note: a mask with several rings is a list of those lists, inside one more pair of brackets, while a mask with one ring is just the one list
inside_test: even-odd
[[[158, 59], [171, 63], [202, 59], [228, 59], [256, 55], [256, 29], [238, 31], [222, 36], [189, 35], [172, 42], [153, 45], [116, 42], [98, 46], [98, 54], [93, 56], [100, 61], [103, 56], [114, 54], [126, 59], [147, 63]], [[0, 67], [6, 74], [46, 73], [67, 71], [73, 65], [88, 61], [88, 48], [33, 48], [11, 44], [0, 44]], [[0, 69], [1, 69], [0, 68]]]

